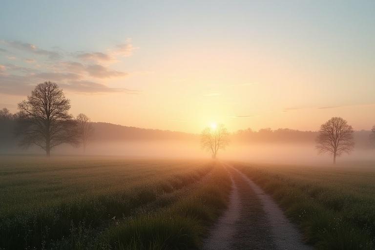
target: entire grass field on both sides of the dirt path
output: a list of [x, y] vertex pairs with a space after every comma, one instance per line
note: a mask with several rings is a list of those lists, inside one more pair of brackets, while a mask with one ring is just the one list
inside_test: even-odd
[[[232, 165], [318, 249], [374, 249], [373, 163]], [[197, 249], [230, 190], [220, 162], [0, 156], [0, 249]]]

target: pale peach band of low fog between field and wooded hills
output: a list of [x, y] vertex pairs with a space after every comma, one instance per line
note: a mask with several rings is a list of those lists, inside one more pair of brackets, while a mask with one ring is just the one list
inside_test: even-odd
[[[34, 153], [43, 151], [33, 149]], [[209, 159], [209, 152], [203, 151], [199, 141], [104, 141], [93, 142], [85, 152], [83, 148], [61, 146], [53, 154], [87, 155], [87, 156], [124, 156], [126, 158], [153, 159]], [[219, 151], [219, 159], [269, 164], [331, 164], [328, 154], [319, 155], [313, 143], [232, 143], [225, 150]], [[342, 155], [337, 163], [350, 161], [375, 160], [375, 149], [355, 148], [350, 155]]]

